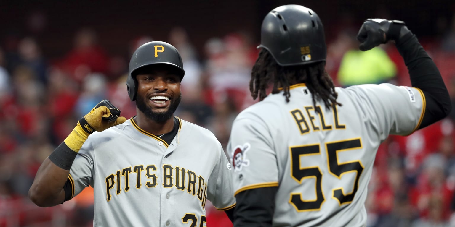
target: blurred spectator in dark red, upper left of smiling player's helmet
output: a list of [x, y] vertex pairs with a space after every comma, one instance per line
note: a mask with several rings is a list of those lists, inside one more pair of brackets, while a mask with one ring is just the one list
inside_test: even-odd
[[66, 55], [63, 65], [77, 81], [82, 81], [91, 72], [107, 73], [108, 58], [97, 44], [95, 31], [82, 29], [77, 32], [74, 47]]

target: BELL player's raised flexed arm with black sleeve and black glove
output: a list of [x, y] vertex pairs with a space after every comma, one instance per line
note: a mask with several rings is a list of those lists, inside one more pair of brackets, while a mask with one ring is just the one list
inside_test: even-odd
[[368, 19], [359, 30], [359, 49], [366, 51], [394, 40], [395, 45], [408, 67], [411, 84], [422, 90], [426, 107], [419, 128], [424, 128], [451, 111], [450, 96], [436, 64], [420, 45], [416, 36], [403, 21]]

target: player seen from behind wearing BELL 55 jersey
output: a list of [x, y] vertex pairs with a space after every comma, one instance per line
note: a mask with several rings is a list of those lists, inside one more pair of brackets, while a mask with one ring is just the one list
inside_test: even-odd
[[265, 16], [250, 81], [261, 102], [238, 115], [227, 147], [237, 199], [234, 227], [365, 227], [379, 144], [450, 112], [438, 69], [404, 22], [366, 20], [358, 39], [363, 51], [393, 40], [413, 87], [335, 88], [324, 70], [318, 15], [283, 5]]

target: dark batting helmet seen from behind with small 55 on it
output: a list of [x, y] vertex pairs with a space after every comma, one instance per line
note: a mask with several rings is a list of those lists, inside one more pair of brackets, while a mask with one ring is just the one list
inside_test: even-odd
[[325, 61], [324, 27], [319, 16], [302, 5], [282, 5], [270, 11], [261, 28], [261, 44], [281, 66]]

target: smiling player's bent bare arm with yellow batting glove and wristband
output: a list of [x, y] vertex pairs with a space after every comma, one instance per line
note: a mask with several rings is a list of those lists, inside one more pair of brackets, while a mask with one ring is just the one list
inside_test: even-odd
[[82, 144], [92, 132], [125, 122], [126, 118], [119, 115], [120, 110], [105, 99], [81, 118], [70, 135], [41, 164], [29, 190], [31, 201], [40, 207], [64, 202], [66, 179]]

